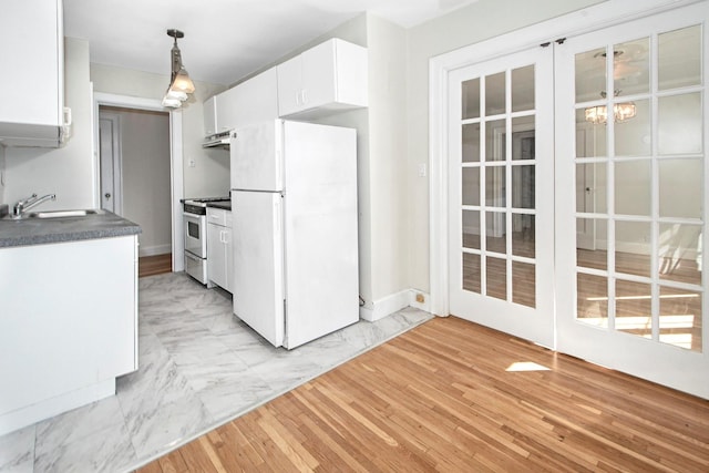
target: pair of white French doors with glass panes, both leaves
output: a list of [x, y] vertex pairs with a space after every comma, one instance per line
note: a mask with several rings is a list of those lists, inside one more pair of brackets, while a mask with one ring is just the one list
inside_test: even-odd
[[449, 74], [452, 315], [709, 399], [706, 7]]

